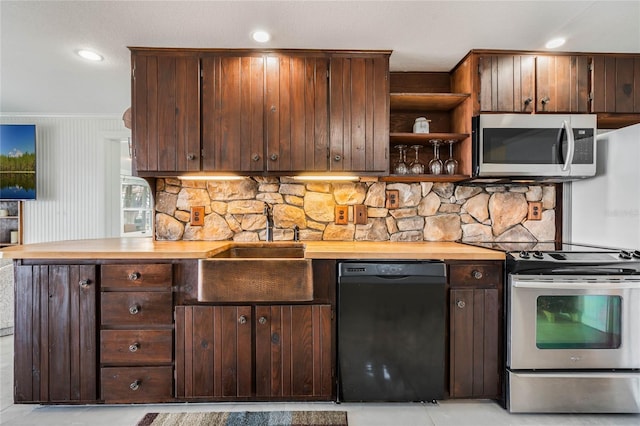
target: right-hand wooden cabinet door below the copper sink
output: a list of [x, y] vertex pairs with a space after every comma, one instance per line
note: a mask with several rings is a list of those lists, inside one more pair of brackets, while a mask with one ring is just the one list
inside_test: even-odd
[[256, 318], [256, 396], [329, 399], [331, 306], [257, 306]]

